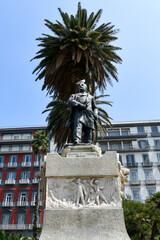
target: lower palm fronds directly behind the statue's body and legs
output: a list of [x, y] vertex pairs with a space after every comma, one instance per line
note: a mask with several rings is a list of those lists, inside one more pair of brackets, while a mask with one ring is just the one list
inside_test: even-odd
[[[110, 101], [100, 100], [109, 95], [99, 95], [95, 96], [96, 105], [98, 108], [98, 119], [97, 124], [95, 125], [95, 133], [93, 142], [96, 142], [97, 131], [99, 130], [102, 134], [106, 131], [106, 125], [111, 126], [110, 117], [107, 112], [103, 110], [99, 105], [110, 105]], [[43, 111], [49, 112], [46, 121], [48, 122], [47, 132], [49, 133], [50, 139], [54, 139], [57, 150], [61, 149], [66, 142], [72, 141], [72, 132], [70, 128], [66, 127], [66, 122], [69, 118], [71, 107], [67, 102], [62, 100], [55, 100], [52, 98], [52, 101], [47, 105], [46, 110]]]

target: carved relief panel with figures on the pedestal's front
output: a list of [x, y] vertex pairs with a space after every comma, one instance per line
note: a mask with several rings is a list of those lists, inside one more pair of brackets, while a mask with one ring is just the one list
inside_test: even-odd
[[46, 209], [121, 207], [118, 178], [47, 179]]

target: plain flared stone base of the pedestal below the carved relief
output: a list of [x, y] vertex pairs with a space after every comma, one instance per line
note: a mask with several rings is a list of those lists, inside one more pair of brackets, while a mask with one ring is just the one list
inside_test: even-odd
[[40, 240], [129, 240], [122, 209], [45, 210]]

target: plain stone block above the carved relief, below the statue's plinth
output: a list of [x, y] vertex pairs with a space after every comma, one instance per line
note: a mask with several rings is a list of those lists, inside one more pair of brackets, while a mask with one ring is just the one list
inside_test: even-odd
[[46, 177], [118, 176], [116, 152], [106, 152], [102, 157], [61, 157], [47, 154]]

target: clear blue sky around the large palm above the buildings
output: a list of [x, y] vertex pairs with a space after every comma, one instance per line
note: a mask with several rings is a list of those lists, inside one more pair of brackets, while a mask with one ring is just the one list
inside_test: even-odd
[[[50, 33], [44, 19], [55, 22], [60, 7], [75, 14], [77, 0], [0, 1], [0, 127], [46, 125], [41, 114], [50, 101], [35, 82], [30, 62], [38, 51], [35, 41]], [[114, 45], [123, 63], [118, 67], [119, 83], [113, 80], [106, 94], [113, 107], [106, 110], [113, 121], [160, 119], [160, 1], [159, 0], [82, 0], [82, 7], [103, 9], [101, 23], [112, 22], [120, 29]]]

